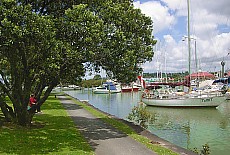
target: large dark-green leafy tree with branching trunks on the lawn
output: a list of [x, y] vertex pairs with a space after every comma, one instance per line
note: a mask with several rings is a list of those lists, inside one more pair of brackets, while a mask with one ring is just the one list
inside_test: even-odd
[[30, 93], [41, 106], [60, 82], [80, 80], [90, 67], [132, 80], [151, 60], [154, 43], [150, 18], [128, 0], [2, 0], [0, 90], [13, 108], [0, 100], [1, 109], [8, 120], [29, 125]]

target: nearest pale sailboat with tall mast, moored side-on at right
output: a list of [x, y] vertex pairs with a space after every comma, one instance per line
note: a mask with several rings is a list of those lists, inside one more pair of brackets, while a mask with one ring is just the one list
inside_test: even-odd
[[[189, 75], [191, 75], [191, 37], [190, 37], [190, 2], [188, 6], [188, 52]], [[191, 80], [191, 77], [189, 78]], [[189, 81], [190, 83], [190, 81]], [[166, 85], [166, 86], [165, 86]], [[142, 102], [146, 105], [161, 107], [217, 107], [224, 100], [223, 96], [210, 95], [208, 93], [184, 93], [172, 91], [167, 84], [158, 85], [161, 89], [146, 89], [142, 94]], [[189, 86], [190, 87], [190, 86]], [[191, 88], [191, 87], [190, 87]]]

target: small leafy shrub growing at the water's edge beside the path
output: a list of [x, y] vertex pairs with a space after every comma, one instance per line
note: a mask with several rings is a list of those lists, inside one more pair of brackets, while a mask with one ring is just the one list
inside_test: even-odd
[[154, 117], [146, 110], [146, 107], [142, 105], [135, 106], [127, 118], [144, 128], [147, 128], [148, 123], [154, 120]]

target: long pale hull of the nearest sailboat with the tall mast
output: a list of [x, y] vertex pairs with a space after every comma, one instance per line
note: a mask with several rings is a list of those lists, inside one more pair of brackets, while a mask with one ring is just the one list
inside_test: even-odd
[[202, 97], [202, 98], [175, 98], [175, 99], [153, 99], [142, 98], [142, 102], [150, 106], [159, 107], [217, 107], [224, 101], [224, 97]]

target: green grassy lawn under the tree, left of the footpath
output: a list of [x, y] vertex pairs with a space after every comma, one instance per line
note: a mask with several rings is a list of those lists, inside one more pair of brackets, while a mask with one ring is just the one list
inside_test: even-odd
[[50, 96], [42, 111], [31, 128], [0, 123], [0, 154], [94, 154], [58, 99]]

